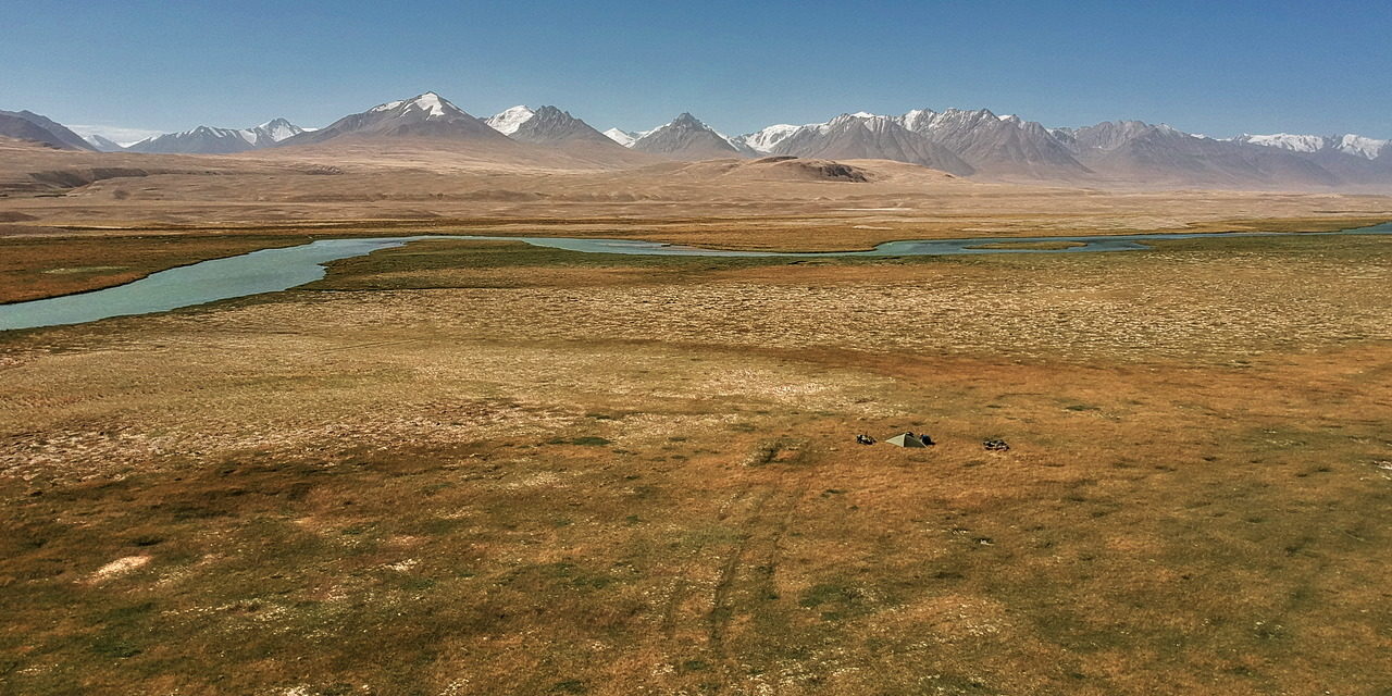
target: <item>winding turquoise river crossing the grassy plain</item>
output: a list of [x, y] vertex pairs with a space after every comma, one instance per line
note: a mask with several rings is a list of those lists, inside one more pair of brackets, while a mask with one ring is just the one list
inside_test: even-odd
[[[885, 242], [859, 252], [741, 252], [702, 249], [640, 239], [579, 239], [568, 237], [486, 237], [423, 235], [319, 239], [316, 242], [262, 249], [226, 259], [213, 259], [152, 273], [141, 280], [92, 292], [79, 292], [31, 302], [0, 305], [0, 330], [42, 326], [81, 324], [113, 316], [149, 315], [219, 299], [262, 292], [278, 292], [313, 283], [327, 273], [326, 263], [363, 256], [379, 249], [402, 246], [422, 239], [512, 241], [583, 253], [622, 253], [644, 256], [732, 256], [732, 258], [820, 258], [820, 256], [949, 256], [967, 253], [1089, 253], [1148, 249], [1146, 242], [1224, 237], [1274, 237], [1292, 234], [1392, 234], [1392, 223], [1340, 230], [1338, 232], [1197, 232], [1132, 234], [1087, 237], [980, 237], [970, 239], [906, 239]], [[1030, 245], [1068, 242], [1075, 246], [983, 248], [991, 245]]]

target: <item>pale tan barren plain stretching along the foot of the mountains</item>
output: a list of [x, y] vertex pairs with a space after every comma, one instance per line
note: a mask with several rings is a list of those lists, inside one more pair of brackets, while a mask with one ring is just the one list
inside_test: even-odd
[[[633, 164], [642, 163], [625, 163]], [[102, 178], [63, 195], [10, 191], [0, 196], [0, 235], [54, 234], [56, 226], [95, 228], [88, 234], [113, 234], [103, 227], [177, 232], [178, 226], [302, 231], [334, 221], [416, 220], [437, 230], [540, 228], [830, 249], [930, 237], [1242, 230], [1282, 219], [1329, 228], [1392, 217], [1388, 195], [1025, 187], [894, 161], [846, 164], [869, 181], [818, 178], [798, 163], [739, 160], [596, 168], [571, 160], [480, 161], [468, 152], [405, 146], [198, 157], [0, 143], [0, 189], [36, 171], [92, 178], [96, 167], [127, 167], [150, 174]]]

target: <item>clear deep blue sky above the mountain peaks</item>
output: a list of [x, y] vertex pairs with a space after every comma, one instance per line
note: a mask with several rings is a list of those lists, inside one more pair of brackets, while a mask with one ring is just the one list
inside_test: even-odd
[[436, 90], [600, 129], [955, 106], [1392, 138], [1389, 0], [0, 0], [0, 109], [79, 125], [326, 125]]

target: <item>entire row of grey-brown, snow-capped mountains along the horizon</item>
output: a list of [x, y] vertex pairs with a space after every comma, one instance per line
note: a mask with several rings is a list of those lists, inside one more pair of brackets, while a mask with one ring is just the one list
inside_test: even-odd
[[[1379, 188], [1392, 185], [1392, 145], [1361, 135], [1242, 135], [1217, 139], [1164, 124], [1107, 121], [1048, 128], [986, 109], [898, 116], [841, 114], [818, 124], [775, 124], [727, 136], [689, 113], [647, 131], [600, 132], [555, 106], [515, 106], [479, 118], [426, 92], [308, 129], [284, 118], [252, 128], [200, 125], [121, 148], [100, 135], [82, 138], [31, 111], [0, 111], [0, 136], [50, 148], [100, 152], [234, 155], [263, 149], [374, 145], [468, 148], [504, 161], [529, 163], [546, 152], [569, 163], [629, 167], [661, 160], [792, 156], [823, 160], [884, 159], [960, 177], [1076, 185], [1204, 188]], [[425, 145], [430, 143], [430, 145]]]

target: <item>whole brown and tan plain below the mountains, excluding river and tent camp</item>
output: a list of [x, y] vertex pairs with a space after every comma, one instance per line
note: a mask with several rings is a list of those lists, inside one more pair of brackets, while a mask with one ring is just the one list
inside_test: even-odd
[[[0, 301], [334, 237], [1392, 220], [1377, 195], [574, 157], [6, 143]], [[1388, 287], [1386, 235], [425, 241], [4, 331], [0, 692], [1385, 696]], [[938, 444], [855, 443], [903, 430]]]

